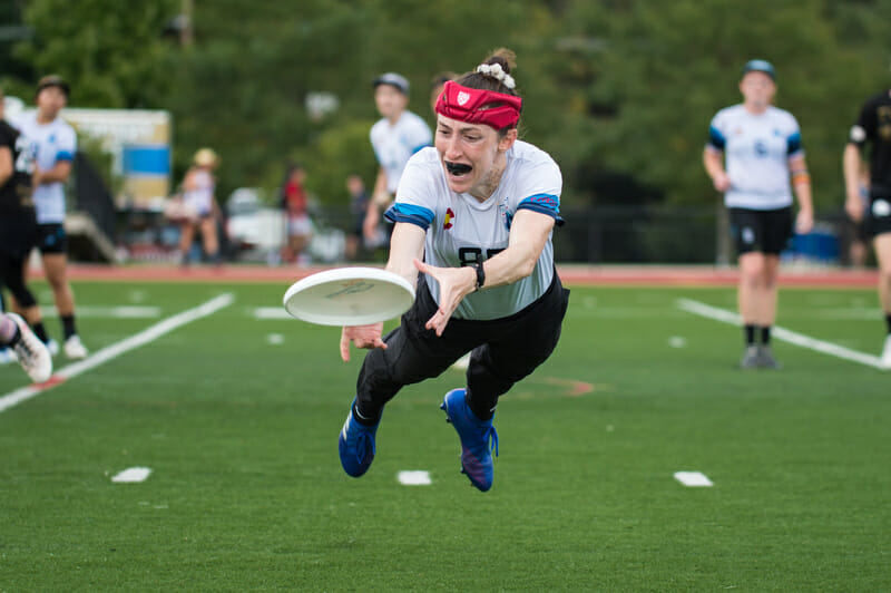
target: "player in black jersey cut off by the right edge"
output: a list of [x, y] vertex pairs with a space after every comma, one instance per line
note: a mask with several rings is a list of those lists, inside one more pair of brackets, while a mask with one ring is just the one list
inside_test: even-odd
[[[870, 204], [863, 212], [860, 200], [862, 148], [869, 144]], [[865, 216], [879, 262], [879, 301], [884, 311], [888, 333], [882, 349], [882, 366], [891, 369], [891, 90], [884, 90], [863, 104], [860, 117], [851, 127], [844, 148], [844, 208], [854, 222]]]

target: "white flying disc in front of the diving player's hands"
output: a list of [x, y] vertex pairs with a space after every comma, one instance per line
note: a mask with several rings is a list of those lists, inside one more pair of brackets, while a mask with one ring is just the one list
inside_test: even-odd
[[414, 288], [379, 268], [337, 268], [298, 280], [285, 292], [291, 315], [320, 325], [365, 325], [401, 315]]

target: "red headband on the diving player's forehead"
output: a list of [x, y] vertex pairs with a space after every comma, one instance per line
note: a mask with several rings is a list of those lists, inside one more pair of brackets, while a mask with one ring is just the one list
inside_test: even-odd
[[519, 97], [462, 87], [453, 80], [446, 82], [437, 99], [438, 114], [468, 124], [484, 124], [497, 130], [516, 125], [521, 109], [522, 99]]

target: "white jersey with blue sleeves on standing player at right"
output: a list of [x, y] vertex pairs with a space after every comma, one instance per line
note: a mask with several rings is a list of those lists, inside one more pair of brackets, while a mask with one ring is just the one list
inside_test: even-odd
[[726, 107], [712, 119], [709, 149], [726, 155], [728, 207], [776, 210], [792, 205], [789, 159], [803, 155], [799, 123], [789, 111], [768, 106], [751, 114], [743, 105]]

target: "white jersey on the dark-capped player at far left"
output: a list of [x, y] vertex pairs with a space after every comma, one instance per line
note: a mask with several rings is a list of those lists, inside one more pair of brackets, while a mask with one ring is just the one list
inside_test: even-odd
[[[49, 124], [37, 121], [37, 111], [25, 114], [16, 126], [28, 140], [31, 154], [41, 171], [49, 171], [59, 161], [74, 161], [77, 152], [77, 134], [61, 117]], [[33, 188], [38, 224], [65, 222], [65, 184], [41, 184]]]

